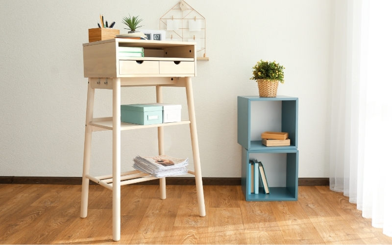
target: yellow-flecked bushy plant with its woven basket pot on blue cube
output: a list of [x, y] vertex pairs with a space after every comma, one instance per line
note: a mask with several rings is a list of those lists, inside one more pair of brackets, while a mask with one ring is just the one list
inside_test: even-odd
[[278, 84], [284, 83], [283, 69], [285, 67], [279, 65], [275, 61], [260, 60], [253, 68], [253, 77], [251, 80], [256, 80], [259, 87], [260, 97], [276, 97]]

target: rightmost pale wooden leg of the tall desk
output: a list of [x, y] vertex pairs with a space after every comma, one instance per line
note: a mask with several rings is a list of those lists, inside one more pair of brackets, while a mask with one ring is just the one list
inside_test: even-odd
[[194, 166], [195, 166], [197, 204], [199, 207], [199, 216], [204, 217], [205, 216], [205, 205], [204, 205], [203, 182], [201, 180], [200, 155], [199, 155], [199, 145], [198, 145], [198, 140], [197, 140], [196, 116], [195, 116], [195, 106], [194, 106], [194, 100], [193, 100], [191, 77], [186, 77], [186, 88], [185, 89], [187, 91], [189, 120], [191, 121], [190, 128], [191, 128], [193, 160], [194, 160]]

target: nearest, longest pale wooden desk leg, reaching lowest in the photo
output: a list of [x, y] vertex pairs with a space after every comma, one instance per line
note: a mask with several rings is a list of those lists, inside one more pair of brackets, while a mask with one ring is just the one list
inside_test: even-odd
[[113, 241], [120, 240], [121, 82], [113, 78]]

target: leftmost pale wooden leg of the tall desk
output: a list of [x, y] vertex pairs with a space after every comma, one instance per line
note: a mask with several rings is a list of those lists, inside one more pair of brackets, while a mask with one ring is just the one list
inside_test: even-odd
[[94, 89], [91, 88], [90, 78], [87, 89], [87, 107], [86, 107], [86, 127], [84, 133], [84, 156], [83, 156], [83, 176], [82, 176], [82, 199], [80, 205], [80, 217], [87, 217], [87, 205], [89, 202], [89, 179], [86, 175], [90, 173], [91, 158], [91, 135], [93, 127], [89, 122], [93, 121], [94, 111]]

